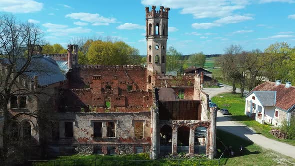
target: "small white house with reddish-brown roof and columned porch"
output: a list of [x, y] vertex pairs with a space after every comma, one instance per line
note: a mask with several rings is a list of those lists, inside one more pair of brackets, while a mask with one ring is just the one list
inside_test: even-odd
[[295, 87], [290, 82], [265, 82], [246, 95], [245, 115], [261, 124], [279, 126], [295, 118]]

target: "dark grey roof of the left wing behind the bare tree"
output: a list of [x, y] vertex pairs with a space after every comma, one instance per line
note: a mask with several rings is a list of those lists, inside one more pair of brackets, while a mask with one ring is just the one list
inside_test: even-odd
[[[4, 59], [4, 63], [9, 64], [10, 62], [8, 59]], [[25, 64], [26, 59], [17, 59], [16, 69], [19, 71]], [[32, 80], [34, 79], [34, 76], [38, 76], [38, 84], [40, 86], [46, 86], [66, 80], [66, 77], [62, 74], [56, 61], [50, 57], [33, 57], [26, 71], [27, 72], [24, 72], [24, 75]]]

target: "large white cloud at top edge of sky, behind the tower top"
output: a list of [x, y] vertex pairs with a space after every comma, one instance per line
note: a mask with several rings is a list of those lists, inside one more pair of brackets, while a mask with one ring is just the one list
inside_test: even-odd
[[181, 14], [192, 14], [194, 18], [215, 18], [232, 15], [245, 8], [250, 0], [141, 0], [141, 3], [182, 9]]

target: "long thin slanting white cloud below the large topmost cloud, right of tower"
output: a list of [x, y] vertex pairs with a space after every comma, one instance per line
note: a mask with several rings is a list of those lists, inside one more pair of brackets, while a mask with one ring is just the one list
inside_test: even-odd
[[217, 19], [212, 23], [193, 23], [191, 26], [195, 29], [210, 29], [212, 27], [222, 26], [223, 24], [230, 24], [230, 23], [238, 23], [245, 20], [252, 20], [253, 18], [250, 16], [244, 15], [234, 15], [234, 16], [227, 16], [221, 19]]

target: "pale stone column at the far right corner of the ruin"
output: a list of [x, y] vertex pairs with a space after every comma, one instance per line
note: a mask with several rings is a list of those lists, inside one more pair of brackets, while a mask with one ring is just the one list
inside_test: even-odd
[[213, 159], [216, 155], [216, 117], [217, 108], [211, 108], [211, 126], [210, 126], [210, 148], [209, 148], [209, 159]]

